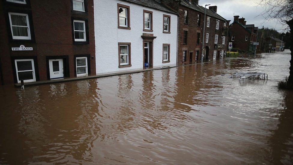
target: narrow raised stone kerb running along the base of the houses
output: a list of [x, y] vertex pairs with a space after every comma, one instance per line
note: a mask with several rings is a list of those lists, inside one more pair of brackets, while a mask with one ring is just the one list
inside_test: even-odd
[[[209, 63], [213, 61], [207, 61], [203, 63]], [[200, 63], [195, 64], [187, 64], [187, 65], [196, 65]], [[184, 65], [184, 66], [187, 66]], [[86, 80], [86, 79], [94, 79], [94, 78], [102, 78], [102, 77], [110, 77], [110, 76], [116, 76], [116, 75], [125, 75], [125, 74], [131, 74], [131, 73], [139, 73], [139, 72], [146, 72], [151, 70], [159, 70], [159, 69], [169, 69], [169, 68], [175, 68], [179, 66], [165, 66], [165, 67], [159, 67], [159, 68], [152, 68], [152, 69], [140, 69], [135, 71], [127, 71], [127, 72], [118, 72], [118, 73], [110, 73], [110, 74], [103, 74], [103, 75], [95, 75], [95, 76], [83, 76], [83, 77], [74, 77], [74, 78], [64, 78], [64, 79], [58, 79], [58, 80], [45, 80], [45, 81], [35, 81], [35, 82], [28, 82], [24, 83], [24, 86], [35, 86], [35, 85], [41, 85], [41, 84], [54, 84], [54, 83], [61, 83], [61, 82], [68, 82], [68, 81], [78, 81], [78, 80]], [[14, 84], [15, 87], [21, 87], [20, 83]]]

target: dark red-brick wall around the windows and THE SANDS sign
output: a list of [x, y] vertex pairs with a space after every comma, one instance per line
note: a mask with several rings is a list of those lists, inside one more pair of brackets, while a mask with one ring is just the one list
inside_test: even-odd
[[[90, 71], [95, 75], [95, 41], [94, 41], [94, 16], [93, 0], [87, 0], [87, 12], [73, 12], [72, 2], [59, 0], [30, 0], [30, 5], [14, 5], [0, 1], [0, 24], [5, 25], [0, 28], [1, 47], [0, 58], [2, 62], [4, 84], [14, 83], [13, 65], [11, 57], [15, 56], [36, 56], [38, 63], [38, 75], [40, 81], [47, 80], [47, 56], [68, 56], [69, 75], [75, 77], [74, 55], [90, 54]], [[11, 39], [8, 12], [11, 11], [31, 12], [33, 22], [33, 34], [35, 41], [15, 42]], [[20, 12], [21, 13], [21, 12]], [[71, 17], [88, 19], [89, 44], [74, 44], [72, 37]], [[30, 22], [30, 23], [31, 23]], [[11, 47], [33, 47], [33, 51], [11, 51]], [[35, 68], [36, 69], [36, 68]]]

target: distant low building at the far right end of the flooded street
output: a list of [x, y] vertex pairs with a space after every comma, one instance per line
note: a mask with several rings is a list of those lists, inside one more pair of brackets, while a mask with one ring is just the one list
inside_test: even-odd
[[285, 42], [279, 38], [267, 37], [264, 45], [266, 52], [284, 51]]

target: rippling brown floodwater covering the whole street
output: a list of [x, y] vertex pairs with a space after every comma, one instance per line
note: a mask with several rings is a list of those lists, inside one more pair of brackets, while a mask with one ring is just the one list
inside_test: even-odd
[[[0, 87], [0, 164], [291, 164], [289, 51], [20, 90]], [[268, 80], [239, 84], [234, 72]]]

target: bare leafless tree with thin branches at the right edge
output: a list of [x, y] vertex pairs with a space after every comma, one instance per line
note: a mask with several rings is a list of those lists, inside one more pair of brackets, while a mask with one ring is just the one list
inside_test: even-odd
[[288, 82], [293, 84], [293, 0], [260, 0], [258, 2], [264, 12], [260, 15], [266, 20], [277, 20], [282, 23], [285, 29], [290, 31], [291, 39], [291, 60], [290, 60], [290, 75]]

